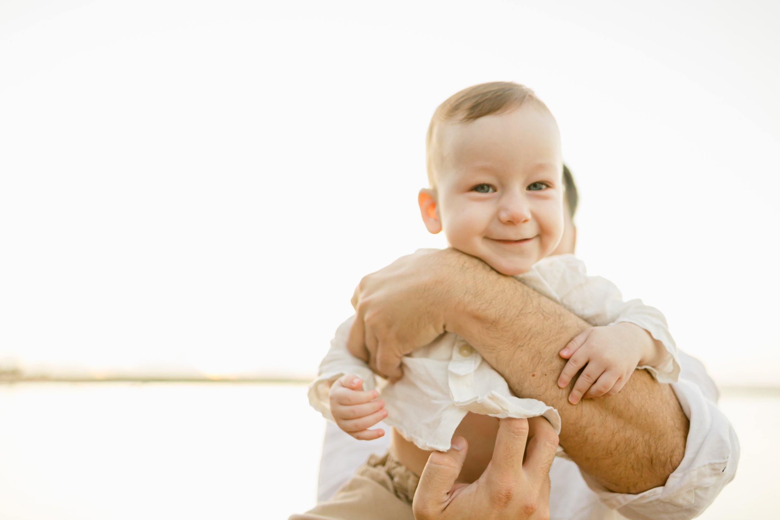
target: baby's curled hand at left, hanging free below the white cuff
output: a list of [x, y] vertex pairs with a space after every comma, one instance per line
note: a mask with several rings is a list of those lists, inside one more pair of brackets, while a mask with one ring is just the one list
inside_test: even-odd
[[363, 391], [363, 380], [353, 373], [335, 380], [330, 393], [331, 413], [339, 428], [360, 440], [385, 435], [385, 430], [368, 430], [388, 416], [385, 401], [377, 399], [378, 395], [376, 390]]

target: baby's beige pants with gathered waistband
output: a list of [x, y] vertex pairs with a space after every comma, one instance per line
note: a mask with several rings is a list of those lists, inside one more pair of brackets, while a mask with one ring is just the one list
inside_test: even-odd
[[332, 499], [289, 520], [414, 520], [412, 499], [418, 481], [392, 455], [371, 455]]

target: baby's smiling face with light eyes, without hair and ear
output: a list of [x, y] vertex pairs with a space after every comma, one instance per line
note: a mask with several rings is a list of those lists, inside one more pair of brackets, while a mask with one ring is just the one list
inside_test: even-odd
[[563, 181], [558, 126], [549, 112], [529, 102], [446, 125], [440, 139], [433, 193], [450, 246], [508, 275], [552, 253], [563, 233]]

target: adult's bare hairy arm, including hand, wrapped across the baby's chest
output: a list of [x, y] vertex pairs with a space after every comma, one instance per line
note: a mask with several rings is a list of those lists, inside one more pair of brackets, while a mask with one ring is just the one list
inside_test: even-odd
[[560, 444], [583, 472], [616, 493], [663, 486], [683, 460], [688, 419], [668, 384], [638, 371], [619, 394], [569, 404], [558, 352], [589, 325], [516, 279], [454, 249], [420, 250], [360, 282], [353, 352], [377, 352], [378, 373], [399, 377], [400, 358], [455, 332], [516, 394], [558, 409]]

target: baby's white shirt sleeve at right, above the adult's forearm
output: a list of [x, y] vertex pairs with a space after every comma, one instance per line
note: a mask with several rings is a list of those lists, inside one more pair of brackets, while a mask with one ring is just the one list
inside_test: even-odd
[[675, 383], [680, 373], [677, 345], [661, 311], [640, 299], [624, 302], [615, 284], [600, 276], [588, 276], [585, 264], [574, 256], [562, 257], [561, 264], [563, 270], [554, 278], [561, 304], [591, 325], [626, 322], [642, 327], [654, 340], [661, 341], [666, 356], [657, 365], [636, 368], [647, 369], [661, 383]]

